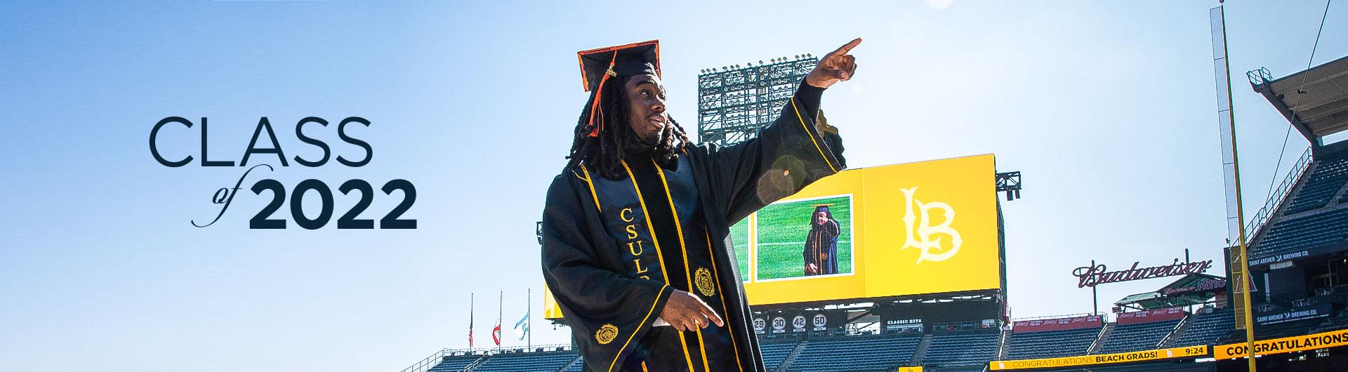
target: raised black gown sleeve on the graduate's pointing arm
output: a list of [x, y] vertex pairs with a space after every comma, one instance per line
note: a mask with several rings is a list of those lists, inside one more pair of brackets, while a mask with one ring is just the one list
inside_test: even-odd
[[782, 115], [752, 139], [727, 147], [700, 146], [712, 159], [713, 198], [724, 206], [720, 212], [728, 222], [847, 167], [837, 129], [814, 120], [822, 94], [822, 88], [802, 81]]

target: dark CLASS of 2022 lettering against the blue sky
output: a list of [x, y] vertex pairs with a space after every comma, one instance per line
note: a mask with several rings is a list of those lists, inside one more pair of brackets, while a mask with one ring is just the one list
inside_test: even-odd
[[[336, 190], [344, 195], [355, 197], [356, 199], [349, 205], [342, 205], [341, 210], [334, 201], [333, 187], [328, 182], [319, 179], [305, 179], [295, 185], [286, 185], [280, 181], [267, 178], [271, 173], [284, 171], [286, 167], [291, 167], [291, 162], [301, 167], [346, 167], [346, 168], [360, 168], [373, 159], [375, 148], [356, 137], [350, 132], [353, 128], [371, 127], [369, 120], [363, 117], [352, 116], [342, 119], [341, 121], [333, 124], [322, 117], [305, 117], [301, 119], [293, 127], [294, 136], [303, 142], [306, 146], [317, 148], [321, 151], [322, 156], [318, 158], [303, 158], [295, 155], [293, 158], [286, 156], [286, 151], [280, 147], [280, 142], [276, 140], [276, 131], [271, 124], [271, 120], [262, 117], [257, 120], [257, 125], [253, 127], [252, 137], [248, 142], [248, 147], [244, 148], [243, 155], [239, 162], [235, 160], [221, 160], [221, 159], [208, 159], [208, 147], [212, 144], [208, 131], [208, 117], [201, 117], [198, 121], [193, 121], [179, 116], [170, 116], [155, 123], [150, 128], [150, 155], [166, 167], [186, 167], [186, 166], [201, 166], [201, 167], [220, 167], [221, 170], [241, 170], [233, 175], [232, 186], [221, 186], [209, 195], [209, 204], [202, 204], [202, 212], [191, 214], [190, 222], [197, 228], [214, 226], [221, 220], [235, 218], [235, 216], [251, 216], [248, 218], [249, 229], [286, 229], [290, 222], [305, 229], [321, 229], [329, 225], [334, 225], [337, 229], [415, 229], [417, 220], [402, 218], [402, 214], [412, 208], [417, 202], [417, 187], [407, 179], [391, 179], [383, 182], [379, 190], [383, 195], [377, 197], [400, 197], [402, 201], [398, 202], [392, 209], [384, 212], [367, 210], [373, 198], [376, 197], [375, 186], [365, 179], [352, 178], [337, 183]], [[309, 128], [309, 135], [305, 129]], [[336, 131], [337, 137], [341, 139], [341, 144], [329, 144], [313, 133], [318, 131]], [[170, 132], [173, 132], [170, 135]], [[193, 154], [185, 152], [168, 152], [160, 151], [164, 147], [183, 148], [181, 143], [166, 146], [170, 137], [173, 140], [183, 140], [193, 137], [191, 133], [185, 132], [198, 132], [201, 142], [198, 146], [200, 158]], [[193, 140], [187, 143], [195, 144]], [[189, 146], [190, 147], [190, 146]], [[340, 151], [333, 160], [333, 152]], [[228, 179], [221, 179], [221, 185], [226, 185]], [[229, 206], [233, 204], [239, 193], [244, 191], [247, 197], [260, 197], [267, 198], [268, 202], [260, 210], [247, 210], [229, 213]], [[400, 191], [402, 195], [395, 194]], [[318, 210], [309, 212], [305, 210], [306, 198], [318, 198]], [[206, 201], [205, 195], [202, 201]], [[288, 210], [282, 210], [282, 206], [288, 201]], [[341, 213], [336, 216], [336, 213]], [[371, 214], [380, 214], [377, 220], [369, 218]], [[226, 216], [228, 214], [228, 216]], [[333, 217], [337, 221], [333, 222]]]

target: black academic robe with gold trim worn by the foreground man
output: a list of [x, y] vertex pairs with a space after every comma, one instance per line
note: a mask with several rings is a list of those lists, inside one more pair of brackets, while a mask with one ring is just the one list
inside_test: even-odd
[[[543, 279], [586, 371], [764, 371], [729, 226], [845, 167], [836, 131], [813, 120], [821, 94], [802, 84], [754, 139], [687, 146], [675, 164], [624, 159], [621, 179], [585, 164], [553, 179]], [[674, 290], [702, 298], [725, 326], [655, 326]]]

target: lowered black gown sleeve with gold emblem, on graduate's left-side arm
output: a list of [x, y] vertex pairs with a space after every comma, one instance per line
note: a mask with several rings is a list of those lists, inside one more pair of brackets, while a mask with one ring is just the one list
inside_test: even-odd
[[562, 173], [547, 189], [543, 280], [582, 345], [586, 365], [612, 371], [650, 330], [674, 287], [608, 270], [620, 267], [621, 251], [593, 236], [586, 221], [599, 221], [596, 208], [582, 202], [569, 177], [570, 171]]

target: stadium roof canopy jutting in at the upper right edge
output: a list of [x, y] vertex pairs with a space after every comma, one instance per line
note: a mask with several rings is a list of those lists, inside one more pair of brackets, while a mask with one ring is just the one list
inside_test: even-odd
[[1348, 57], [1278, 80], [1268, 69], [1246, 77], [1310, 143], [1348, 129]]

